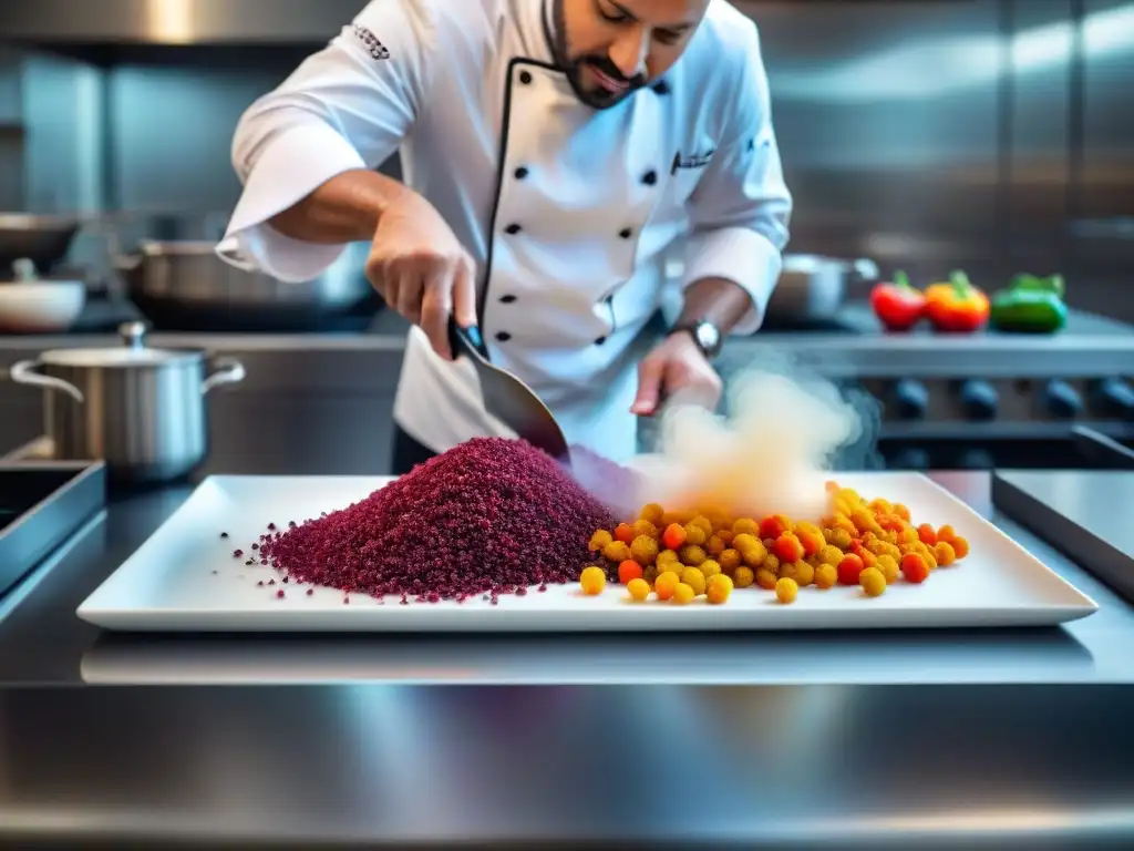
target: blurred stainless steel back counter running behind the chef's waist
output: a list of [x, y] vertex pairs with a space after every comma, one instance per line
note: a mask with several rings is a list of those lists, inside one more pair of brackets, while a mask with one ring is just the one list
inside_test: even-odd
[[[768, 359], [788, 359], [831, 378], [936, 378], [941, 376], [942, 363], [966, 378], [1017, 378], [1021, 370], [1029, 376], [1076, 379], [1134, 373], [1134, 327], [1105, 317], [1075, 313], [1064, 332], [1051, 336], [881, 334], [869, 306], [860, 303], [847, 305], [841, 317], [862, 332], [764, 330], [729, 337], [717, 365], [726, 377]], [[406, 328], [396, 313], [382, 311], [371, 329], [361, 334], [155, 331], [149, 340], [153, 346], [204, 348], [239, 357], [248, 369], [242, 391], [308, 387], [371, 391], [375, 382], [392, 388]], [[652, 330], [661, 332], [662, 327]], [[113, 335], [0, 336], [0, 376], [17, 360], [46, 349], [119, 344]]]

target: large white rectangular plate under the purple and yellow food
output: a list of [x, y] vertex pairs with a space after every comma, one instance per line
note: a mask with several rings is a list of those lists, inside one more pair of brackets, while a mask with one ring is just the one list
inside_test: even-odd
[[[953, 524], [972, 553], [922, 585], [899, 582], [878, 598], [857, 588], [801, 589], [785, 606], [761, 589], [738, 589], [723, 606], [633, 604], [610, 585], [577, 585], [439, 604], [378, 600], [282, 584], [259, 563], [234, 558], [269, 523], [281, 528], [357, 502], [390, 480], [359, 477], [211, 477], [78, 608], [110, 630], [152, 632], [570, 632], [636, 630], [815, 630], [1040, 626], [1084, 617], [1098, 606], [976, 512], [919, 473], [841, 474], [863, 496], [909, 506], [914, 520]], [[228, 538], [221, 538], [221, 532]], [[266, 584], [276, 579], [276, 585]], [[265, 584], [257, 584], [263, 581]], [[278, 590], [285, 597], [277, 597]]]

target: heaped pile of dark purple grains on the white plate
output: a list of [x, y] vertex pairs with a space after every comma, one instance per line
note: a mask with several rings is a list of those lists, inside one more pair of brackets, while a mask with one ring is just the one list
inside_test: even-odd
[[301, 583], [422, 603], [578, 580], [615, 519], [548, 455], [476, 438], [366, 499], [262, 544]]

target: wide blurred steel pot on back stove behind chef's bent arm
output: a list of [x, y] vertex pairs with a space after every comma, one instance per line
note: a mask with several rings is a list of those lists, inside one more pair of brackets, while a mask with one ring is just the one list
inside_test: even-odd
[[353, 312], [381, 306], [365, 275], [369, 245], [352, 245], [314, 280], [289, 284], [236, 268], [209, 242], [143, 242], [116, 260], [130, 300], [162, 327], [226, 330], [318, 328]]

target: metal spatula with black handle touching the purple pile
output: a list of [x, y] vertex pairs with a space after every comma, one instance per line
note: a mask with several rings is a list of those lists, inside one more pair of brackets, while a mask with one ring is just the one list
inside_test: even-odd
[[450, 317], [449, 346], [455, 357], [465, 354], [473, 362], [481, 379], [484, 407], [490, 414], [532, 446], [570, 465], [567, 438], [556, 418], [531, 387], [489, 361], [479, 328], [462, 328]]

